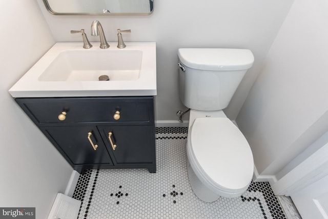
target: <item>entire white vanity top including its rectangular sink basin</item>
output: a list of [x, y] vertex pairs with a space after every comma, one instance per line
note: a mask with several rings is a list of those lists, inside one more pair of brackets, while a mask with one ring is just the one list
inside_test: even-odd
[[[56, 43], [9, 90], [13, 97], [156, 95], [156, 43]], [[99, 81], [99, 76], [109, 81]]]

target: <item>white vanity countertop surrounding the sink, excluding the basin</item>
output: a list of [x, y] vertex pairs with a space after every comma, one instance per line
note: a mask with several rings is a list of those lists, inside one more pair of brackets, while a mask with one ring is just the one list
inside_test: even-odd
[[109, 43], [107, 50], [140, 50], [142, 61], [139, 78], [133, 81], [40, 81], [53, 60], [64, 51], [100, 51], [99, 42], [92, 42], [90, 49], [83, 43], [56, 43], [39, 61], [10, 88], [13, 97], [64, 97], [64, 96], [145, 96], [156, 95], [156, 43], [127, 42], [118, 49], [117, 43]]

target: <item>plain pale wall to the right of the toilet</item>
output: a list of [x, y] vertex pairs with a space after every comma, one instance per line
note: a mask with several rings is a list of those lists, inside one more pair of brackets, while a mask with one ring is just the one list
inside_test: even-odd
[[328, 131], [328, 1], [295, 1], [238, 117], [260, 174]]

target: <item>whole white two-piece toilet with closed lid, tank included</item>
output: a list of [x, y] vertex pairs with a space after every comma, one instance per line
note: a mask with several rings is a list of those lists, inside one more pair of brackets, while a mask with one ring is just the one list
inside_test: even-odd
[[204, 202], [244, 193], [253, 177], [247, 140], [222, 111], [252, 67], [247, 49], [178, 50], [179, 93], [190, 108], [187, 170], [193, 192]]

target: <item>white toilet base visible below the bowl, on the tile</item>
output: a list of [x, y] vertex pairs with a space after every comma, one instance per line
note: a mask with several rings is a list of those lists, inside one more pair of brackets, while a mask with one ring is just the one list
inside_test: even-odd
[[196, 176], [187, 158], [187, 171], [191, 188], [195, 195], [203, 202], [215, 202], [220, 195], [215, 194], [212, 190], [208, 189]]

